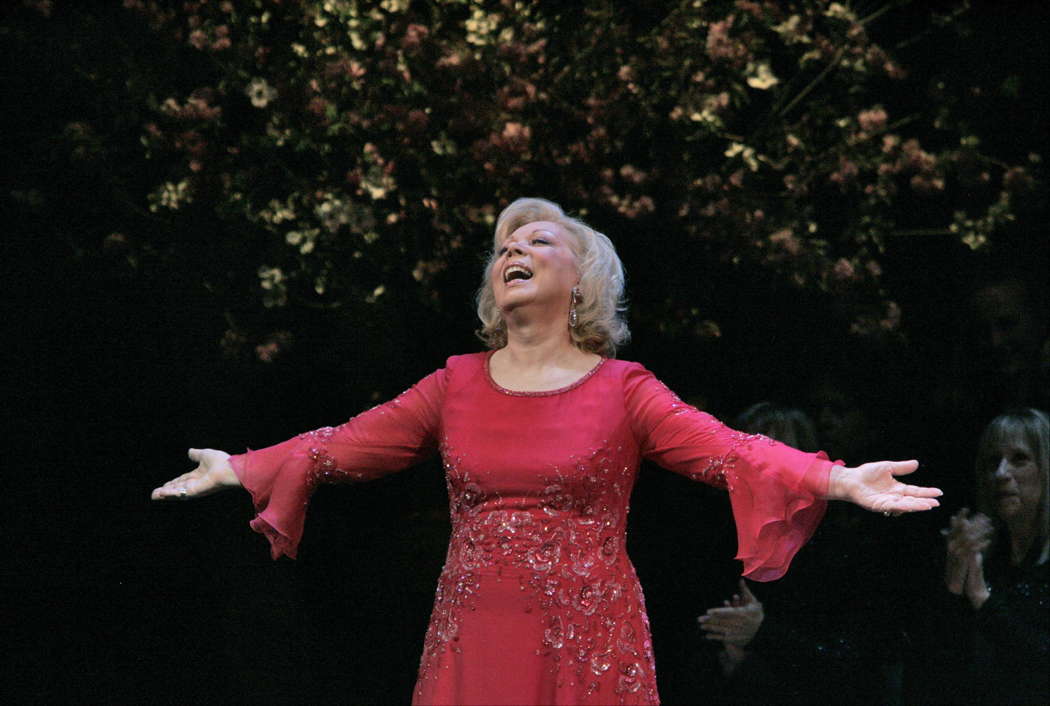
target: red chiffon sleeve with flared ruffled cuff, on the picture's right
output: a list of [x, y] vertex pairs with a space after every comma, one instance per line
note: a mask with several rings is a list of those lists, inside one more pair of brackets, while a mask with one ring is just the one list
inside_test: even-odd
[[734, 431], [682, 402], [642, 366], [626, 373], [625, 401], [643, 457], [729, 490], [743, 575], [783, 576], [824, 516], [827, 456]]

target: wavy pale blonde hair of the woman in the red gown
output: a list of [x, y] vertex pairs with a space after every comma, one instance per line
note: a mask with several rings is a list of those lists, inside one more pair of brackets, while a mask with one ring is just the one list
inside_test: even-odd
[[[478, 337], [489, 348], [507, 345], [507, 325], [496, 306], [491, 273], [496, 250], [507, 235], [536, 221], [556, 223], [572, 237], [570, 247], [580, 270], [582, 302], [576, 304], [578, 324], [569, 329], [572, 342], [582, 351], [608, 357], [628, 341], [631, 334], [624, 320], [624, 265], [616, 255], [612, 241], [587, 224], [565, 214], [562, 208], [545, 199], [518, 199], [500, 213], [492, 236], [492, 254], [478, 289]], [[566, 321], [566, 326], [568, 323]]]

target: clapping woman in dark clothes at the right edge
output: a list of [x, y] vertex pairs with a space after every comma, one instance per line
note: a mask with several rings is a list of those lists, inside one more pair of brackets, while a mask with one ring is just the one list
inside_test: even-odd
[[1050, 422], [1018, 409], [981, 435], [978, 512], [942, 531], [944, 583], [939, 680], [925, 702], [1050, 703]]

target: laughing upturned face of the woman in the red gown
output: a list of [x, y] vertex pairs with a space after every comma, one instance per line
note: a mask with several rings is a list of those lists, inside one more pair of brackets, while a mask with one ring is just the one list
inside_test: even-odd
[[490, 284], [504, 314], [526, 305], [568, 311], [580, 282], [572, 235], [550, 221], [521, 226], [498, 244]]

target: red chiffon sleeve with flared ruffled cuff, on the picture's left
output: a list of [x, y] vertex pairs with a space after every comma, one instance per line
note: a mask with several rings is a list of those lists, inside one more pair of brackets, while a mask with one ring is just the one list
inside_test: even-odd
[[255, 505], [251, 527], [270, 541], [274, 559], [295, 558], [307, 505], [318, 483], [379, 478], [437, 450], [445, 378], [445, 369], [438, 370], [338, 427], [230, 457]]

